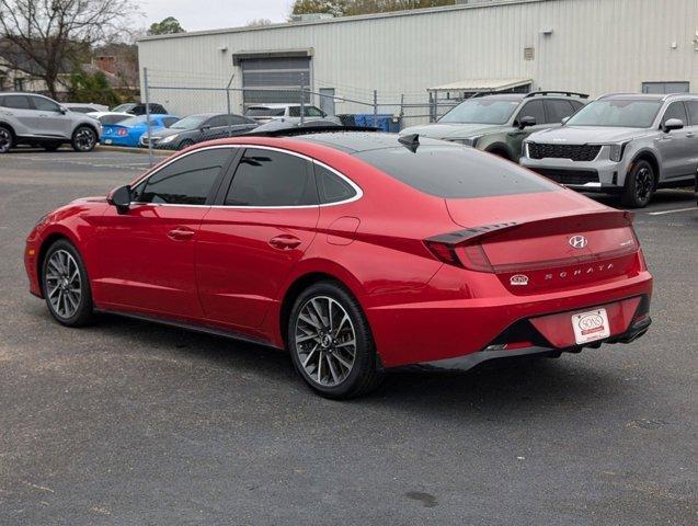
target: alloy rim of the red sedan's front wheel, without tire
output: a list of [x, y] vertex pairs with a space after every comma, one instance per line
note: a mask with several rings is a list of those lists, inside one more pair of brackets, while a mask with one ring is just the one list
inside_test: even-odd
[[54, 312], [62, 319], [72, 318], [80, 307], [82, 279], [78, 263], [70, 252], [57, 250], [46, 266], [46, 297]]

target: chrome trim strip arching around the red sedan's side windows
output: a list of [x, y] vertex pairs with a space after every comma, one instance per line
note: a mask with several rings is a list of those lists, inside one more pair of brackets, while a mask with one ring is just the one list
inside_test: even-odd
[[[301, 159], [305, 159], [308, 162], [311, 162], [312, 164], [318, 164], [319, 167], [322, 167], [327, 170], [329, 170], [330, 172], [334, 173], [336, 176], [339, 176], [340, 179], [342, 179], [343, 181], [345, 181], [350, 186], [352, 186], [352, 188], [355, 192], [355, 195], [353, 195], [352, 197], [350, 197], [348, 199], [344, 199], [344, 201], [337, 201], [336, 203], [320, 203], [318, 205], [283, 205], [283, 206], [240, 206], [240, 205], [183, 205], [183, 204], [174, 204], [174, 203], [141, 203], [141, 202], [131, 202], [131, 205], [153, 205], [153, 206], [186, 206], [186, 207], [206, 207], [206, 208], [227, 208], [227, 209], [242, 209], [242, 210], [255, 210], [255, 209], [294, 209], [294, 208], [320, 208], [320, 207], [325, 207], [325, 206], [336, 206], [336, 205], [345, 205], [347, 203], [353, 203], [355, 201], [361, 199], [364, 196], [364, 191], [362, 190], [362, 187], [359, 185], [357, 185], [354, 181], [352, 181], [350, 178], [347, 178], [346, 175], [344, 175], [342, 172], [335, 170], [334, 168], [325, 164], [322, 161], [318, 161], [317, 159], [313, 159], [311, 157], [308, 157], [304, 153], [298, 153], [297, 151], [290, 151], [290, 150], [285, 150], [284, 148], [278, 148], [275, 146], [263, 146], [263, 145], [215, 145], [215, 146], [207, 146], [204, 148], [198, 148], [196, 150], [190, 151], [187, 153], [181, 155], [181, 156], [176, 156], [174, 159], [170, 159], [168, 160], [164, 164], [160, 165], [157, 168], [157, 170], [151, 171], [151, 172], [147, 172], [142, 178], [140, 178], [139, 180], [136, 181], [136, 183], [133, 185], [133, 187], [135, 188], [136, 186], [138, 186], [139, 184], [144, 183], [145, 181], [147, 181], [148, 179], [150, 179], [151, 176], [153, 176], [155, 174], [157, 174], [158, 172], [160, 172], [160, 170], [165, 169], [167, 167], [169, 167], [170, 164], [172, 164], [174, 161], [178, 161], [180, 159], [183, 159], [187, 156], [191, 156], [193, 153], [197, 153], [199, 151], [205, 151], [205, 150], [213, 150], [213, 149], [219, 149], [219, 148], [256, 148], [260, 150], [272, 150], [272, 151], [278, 151], [281, 153], [287, 153], [289, 156], [295, 156], [295, 157], [299, 157]], [[234, 179], [234, 178], [233, 178]], [[319, 198], [319, 196], [318, 196]]]

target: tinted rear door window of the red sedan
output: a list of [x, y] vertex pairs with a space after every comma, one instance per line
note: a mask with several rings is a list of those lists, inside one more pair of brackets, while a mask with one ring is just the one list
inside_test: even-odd
[[248, 148], [228, 190], [226, 205], [317, 205], [318, 192], [309, 164], [281, 151]]

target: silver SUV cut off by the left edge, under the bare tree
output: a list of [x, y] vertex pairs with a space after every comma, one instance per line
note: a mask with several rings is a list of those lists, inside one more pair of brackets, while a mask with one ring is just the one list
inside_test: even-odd
[[90, 151], [100, 140], [100, 123], [71, 112], [47, 96], [33, 93], [0, 93], [0, 153], [16, 145], [57, 150], [70, 144], [76, 151]]

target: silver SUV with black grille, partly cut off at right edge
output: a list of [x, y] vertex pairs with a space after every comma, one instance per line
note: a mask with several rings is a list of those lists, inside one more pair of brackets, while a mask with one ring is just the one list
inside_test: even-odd
[[520, 163], [565, 186], [646, 206], [656, 188], [693, 185], [698, 95], [602, 96], [562, 127], [531, 134]]

